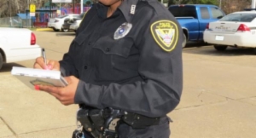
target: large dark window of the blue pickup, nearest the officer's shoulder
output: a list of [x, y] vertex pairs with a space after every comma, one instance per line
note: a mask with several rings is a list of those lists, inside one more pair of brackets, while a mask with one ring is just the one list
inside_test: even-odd
[[171, 6], [169, 11], [174, 17], [194, 17], [196, 18], [195, 7], [193, 6]]

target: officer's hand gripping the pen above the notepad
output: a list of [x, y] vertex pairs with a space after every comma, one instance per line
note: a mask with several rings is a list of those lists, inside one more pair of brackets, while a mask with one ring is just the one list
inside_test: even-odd
[[57, 70], [60, 71], [60, 63], [57, 60], [47, 60], [47, 65], [44, 63], [44, 58], [38, 57], [34, 63], [34, 68], [44, 69], [44, 70]]

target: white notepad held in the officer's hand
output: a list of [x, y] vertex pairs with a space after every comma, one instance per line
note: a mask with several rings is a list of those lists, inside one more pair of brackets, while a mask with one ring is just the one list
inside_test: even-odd
[[61, 76], [60, 71], [13, 66], [11, 74], [31, 89], [34, 89], [34, 85], [39, 84], [57, 87], [67, 86], [67, 81]]

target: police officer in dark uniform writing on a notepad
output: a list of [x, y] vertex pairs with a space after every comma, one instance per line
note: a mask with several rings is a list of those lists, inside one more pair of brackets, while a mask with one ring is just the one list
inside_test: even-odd
[[182, 42], [177, 20], [157, 0], [99, 0], [85, 14], [62, 60], [45, 65], [39, 57], [34, 64], [60, 70], [67, 87], [39, 88], [63, 105], [159, 118], [140, 129], [119, 124], [119, 138], [169, 138], [166, 114], [179, 103], [183, 88]]

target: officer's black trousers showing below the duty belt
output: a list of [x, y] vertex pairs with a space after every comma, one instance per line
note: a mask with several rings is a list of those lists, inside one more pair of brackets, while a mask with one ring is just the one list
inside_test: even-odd
[[[119, 138], [169, 138], [171, 130], [169, 127], [170, 118], [160, 118], [160, 124], [152, 125], [145, 129], [132, 129], [127, 124], [119, 125]], [[84, 132], [85, 138], [94, 138], [88, 132]]]

